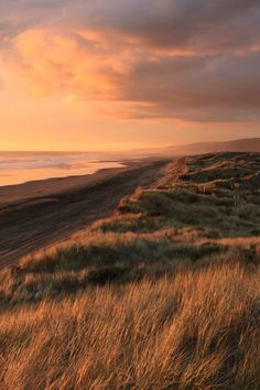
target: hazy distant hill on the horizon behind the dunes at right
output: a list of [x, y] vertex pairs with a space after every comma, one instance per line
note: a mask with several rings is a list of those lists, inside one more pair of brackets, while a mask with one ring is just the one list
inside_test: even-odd
[[203, 142], [171, 147], [171, 154], [203, 154], [217, 152], [260, 152], [260, 138], [248, 138], [228, 142]]

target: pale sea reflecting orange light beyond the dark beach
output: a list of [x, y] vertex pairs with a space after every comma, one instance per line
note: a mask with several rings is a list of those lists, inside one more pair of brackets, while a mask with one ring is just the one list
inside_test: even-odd
[[84, 152], [0, 152], [0, 186], [94, 174], [121, 167], [111, 154]]

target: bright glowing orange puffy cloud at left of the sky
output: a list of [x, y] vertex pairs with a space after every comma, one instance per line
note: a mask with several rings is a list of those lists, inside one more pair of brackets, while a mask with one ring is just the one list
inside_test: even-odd
[[18, 35], [4, 57], [33, 95], [105, 100], [116, 99], [113, 79], [126, 75], [132, 53], [115, 51], [91, 32], [33, 29]]

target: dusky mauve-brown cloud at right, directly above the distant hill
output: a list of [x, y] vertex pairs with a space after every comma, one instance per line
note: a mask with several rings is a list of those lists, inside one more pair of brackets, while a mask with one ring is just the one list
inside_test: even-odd
[[137, 116], [194, 120], [260, 119], [260, 53], [163, 57], [117, 80], [120, 99], [151, 104]]

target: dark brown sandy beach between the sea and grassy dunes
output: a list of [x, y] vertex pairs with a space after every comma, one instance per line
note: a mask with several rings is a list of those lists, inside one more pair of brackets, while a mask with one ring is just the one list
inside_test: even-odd
[[109, 216], [122, 196], [158, 180], [167, 162], [127, 162], [93, 175], [0, 187], [0, 268]]

